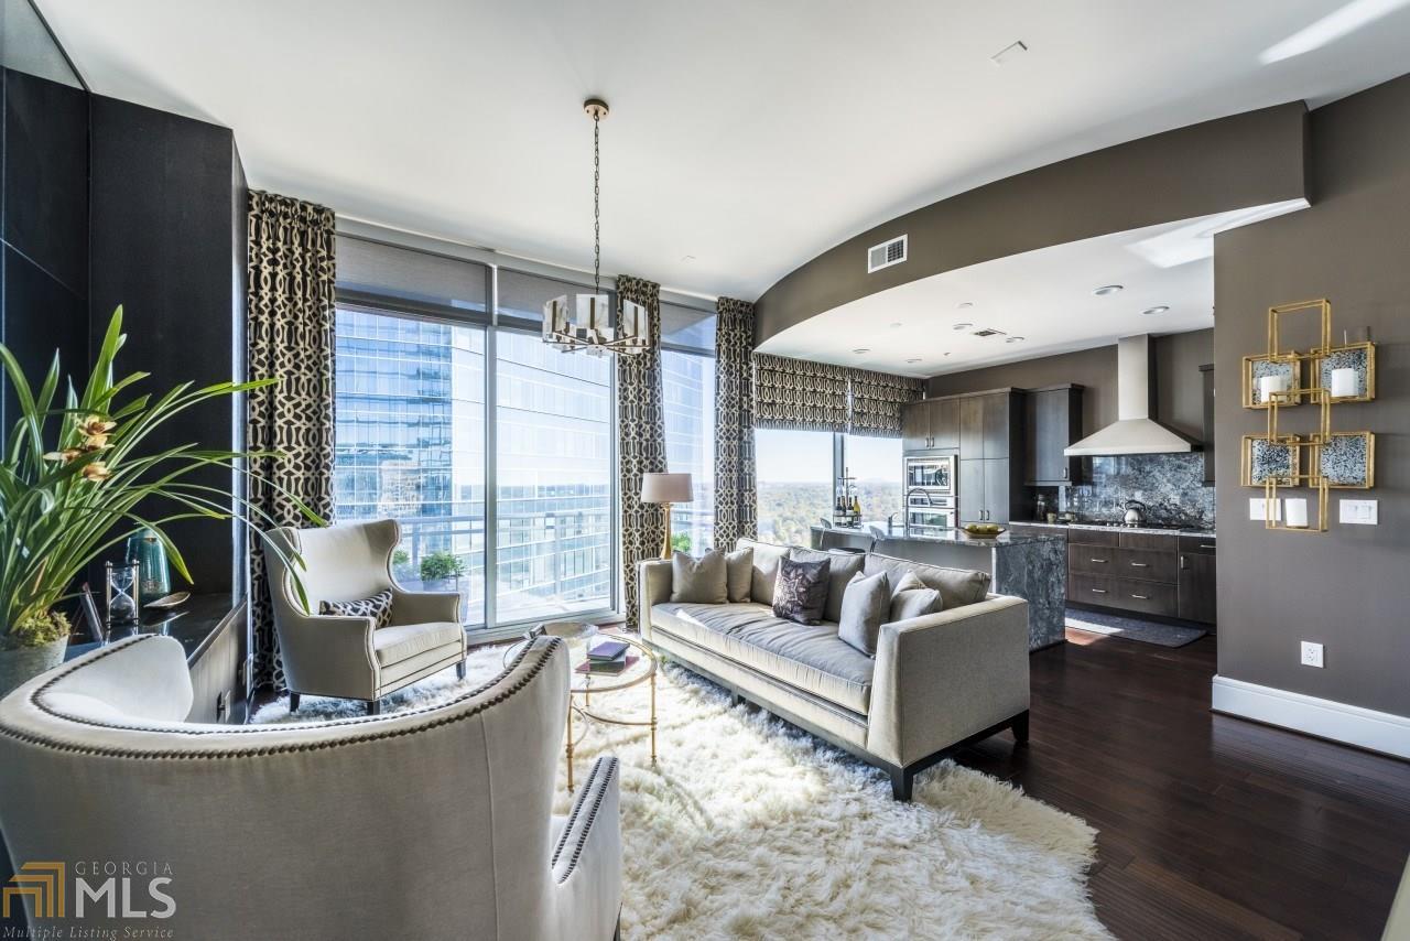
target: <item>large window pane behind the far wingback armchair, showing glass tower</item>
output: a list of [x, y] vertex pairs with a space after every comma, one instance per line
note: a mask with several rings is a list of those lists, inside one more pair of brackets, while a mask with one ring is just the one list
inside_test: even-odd
[[485, 332], [341, 305], [336, 323], [336, 519], [400, 522], [398, 581], [484, 624]]

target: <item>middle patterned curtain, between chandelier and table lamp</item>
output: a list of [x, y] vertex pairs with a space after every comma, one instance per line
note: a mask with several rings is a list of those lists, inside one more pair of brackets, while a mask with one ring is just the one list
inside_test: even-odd
[[618, 466], [622, 494], [622, 588], [626, 626], [636, 624], [636, 566], [660, 553], [666, 515], [642, 502], [642, 474], [666, 471], [666, 413], [661, 409], [661, 285], [618, 275], [618, 293], [646, 308], [646, 353], [618, 354]]

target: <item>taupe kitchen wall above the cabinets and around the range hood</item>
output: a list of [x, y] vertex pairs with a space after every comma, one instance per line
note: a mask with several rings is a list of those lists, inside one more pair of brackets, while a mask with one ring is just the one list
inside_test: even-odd
[[[1200, 367], [1214, 361], [1214, 330], [1173, 333], [1155, 339], [1156, 418], [1194, 440], [1204, 439], [1204, 403]], [[1014, 385], [1035, 388], [1077, 382], [1083, 435], [1117, 420], [1117, 347], [1046, 356], [1022, 363], [990, 365], [936, 375], [926, 381], [926, 395], [955, 395]]]

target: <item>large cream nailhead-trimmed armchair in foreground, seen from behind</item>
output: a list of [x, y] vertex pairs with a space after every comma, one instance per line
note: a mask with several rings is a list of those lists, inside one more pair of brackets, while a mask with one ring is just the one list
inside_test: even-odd
[[[616, 759], [592, 766], [568, 817], [551, 815], [568, 708], [561, 641], [533, 641], [451, 703], [381, 717], [203, 725], [183, 721], [190, 703], [182, 646], [158, 635], [0, 701], [11, 858], [69, 866], [66, 917], [25, 899], [35, 937], [75, 924], [214, 941], [613, 935]], [[75, 921], [83, 861], [134, 869]], [[128, 906], [165, 917], [124, 918]]]

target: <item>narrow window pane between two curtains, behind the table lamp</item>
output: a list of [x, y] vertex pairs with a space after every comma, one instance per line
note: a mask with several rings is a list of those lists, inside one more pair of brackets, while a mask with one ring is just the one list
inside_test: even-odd
[[671, 545], [699, 554], [715, 547], [715, 357], [661, 350], [661, 398], [666, 466], [688, 473], [694, 494], [671, 506]]

